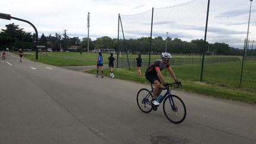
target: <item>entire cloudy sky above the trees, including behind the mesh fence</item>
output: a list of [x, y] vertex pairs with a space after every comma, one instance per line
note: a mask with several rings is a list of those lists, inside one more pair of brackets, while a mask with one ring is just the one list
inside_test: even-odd
[[[256, 37], [255, 2], [252, 2], [251, 10], [251, 39]], [[226, 37], [233, 41], [244, 39], [247, 36], [249, 6], [249, 0], [211, 0], [207, 31], [209, 40]], [[69, 37], [79, 38], [87, 37], [87, 15], [90, 12], [89, 37], [95, 40], [103, 36], [117, 38], [119, 14], [126, 38], [150, 36], [152, 8], [153, 37], [204, 38], [207, 0], [8, 0], [1, 1], [0, 12], [30, 21], [36, 26], [39, 37], [42, 33], [49, 36], [63, 34], [66, 30]], [[0, 19], [0, 28], [10, 23], [34, 33], [29, 24], [17, 20]]]

